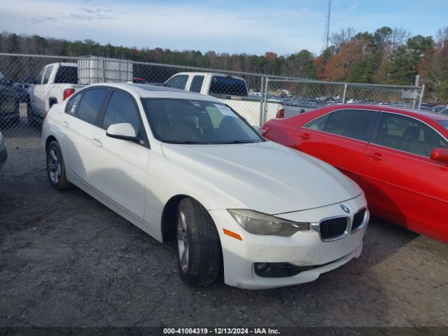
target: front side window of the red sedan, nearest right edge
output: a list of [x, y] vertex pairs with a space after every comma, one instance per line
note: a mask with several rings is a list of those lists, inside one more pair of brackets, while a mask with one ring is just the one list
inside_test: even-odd
[[448, 148], [448, 142], [432, 128], [392, 113], [384, 113], [375, 144], [428, 158], [433, 148]]

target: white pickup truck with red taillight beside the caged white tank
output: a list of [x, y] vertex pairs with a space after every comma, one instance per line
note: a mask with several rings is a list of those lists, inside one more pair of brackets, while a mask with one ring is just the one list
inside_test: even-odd
[[31, 111], [28, 114], [28, 123], [40, 125], [53, 104], [63, 102], [83, 87], [85, 85], [78, 84], [78, 64], [45, 65], [29, 88]]

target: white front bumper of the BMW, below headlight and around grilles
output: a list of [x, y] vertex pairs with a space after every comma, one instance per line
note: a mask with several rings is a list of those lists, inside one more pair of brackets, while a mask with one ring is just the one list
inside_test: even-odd
[[[343, 202], [351, 211], [345, 214], [340, 204], [277, 215], [291, 221], [318, 223], [323, 218], [341, 216], [350, 218], [366, 206], [364, 195]], [[329, 272], [358, 258], [363, 249], [365, 224], [356, 232], [349, 232], [335, 241], [322, 241], [315, 230], [300, 231], [291, 237], [252, 235], [241, 228], [225, 209], [209, 211], [221, 238], [224, 260], [224, 281], [230, 286], [248, 289], [275, 288], [314, 281], [320, 274]], [[236, 232], [242, 241], [224, 234], [224, 229]], [[350, 231], [350, 230], [349, 230]], [[287, 262], [297, 266], [314, 266], [293, 276], [265, 277], [255, 274], [255, 262]]]

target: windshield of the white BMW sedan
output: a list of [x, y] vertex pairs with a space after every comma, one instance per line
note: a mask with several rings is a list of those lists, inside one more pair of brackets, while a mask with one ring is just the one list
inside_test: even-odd
[[143, 102], [154, 137], [174, 144], [244, 144], [261, 142], [235, 111], [201, 100], [145, 98]]

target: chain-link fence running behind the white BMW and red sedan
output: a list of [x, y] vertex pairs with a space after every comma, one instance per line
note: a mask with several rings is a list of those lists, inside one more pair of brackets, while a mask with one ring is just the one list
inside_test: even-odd
[[328, 104], [421, 104], [422, 87], [330, 83], [132, 62], [99, 57], [55, 57], [0, 53], [0, 131], [5, 137], [39, 136], [45, 113], [85, 85], [129, 82], [166, 85], [210, 94], [251, 125]]

